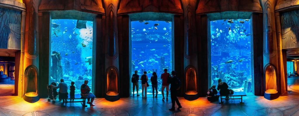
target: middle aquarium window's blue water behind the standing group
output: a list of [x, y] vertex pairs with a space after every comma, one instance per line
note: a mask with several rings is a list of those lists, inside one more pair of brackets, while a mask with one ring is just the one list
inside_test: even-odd
[[[158, 94], [161, 94], [161, 74], [164, 73], [164, 68], [171, 72], [173, 64], [172, 24], [168, 21], [132, 21], [131, 26], [132, 74], [138, 70], [141, 77], [144, 71], [148, 72], [147, 93], [152, 94], [150, 78], [152, 72], [156, 72]], [[139, 93], [141, 93], [141, 81], [139, 81]]]

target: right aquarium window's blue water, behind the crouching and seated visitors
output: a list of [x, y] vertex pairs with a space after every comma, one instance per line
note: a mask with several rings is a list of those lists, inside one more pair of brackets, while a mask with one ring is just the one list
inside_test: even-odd
[[211, 84], [218, 79], [234, 91], [252, 92], [251, 20], [210, 21]]

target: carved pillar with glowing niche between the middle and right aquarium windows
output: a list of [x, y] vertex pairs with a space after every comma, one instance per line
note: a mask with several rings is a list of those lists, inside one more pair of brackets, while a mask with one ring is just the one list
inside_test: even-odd
[[[184, 10], [184, 89], [185, 99], [195, 100], [198, 98], [198, 88], [190, 89], [187, 87], [189, 82], [194, 82], [194, 86], [197, 86], [198, 82], [198, 61], [197, 61], [197, 40], [196, 40], [196, 22], [195, 12], [197, 1], [196, 0], [182, 0], [182, 6]], [[194, 78], [189, 77], [192, 75]], [[192, 79], [192, 80], [190, 80]], [[192, 92], [191, 92], [192, 91]], [[192, 93], [189, 94], [189, 93]]]

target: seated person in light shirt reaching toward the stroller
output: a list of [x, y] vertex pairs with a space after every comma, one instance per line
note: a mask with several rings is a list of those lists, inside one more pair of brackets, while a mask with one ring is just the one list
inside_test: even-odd
[[68, 98], [68, 85], [64, 82], [63, 79], [60, 79], [60, 83], [57, 86], [51, 84], [51, 87], [58, 89], [59, 88], [59, 101], [66, 101]]

